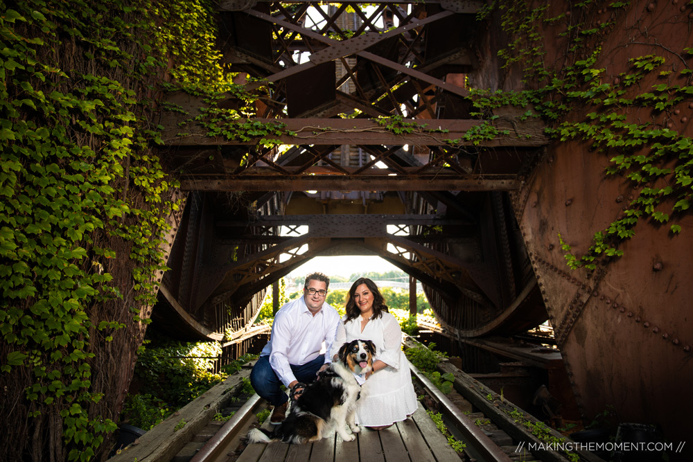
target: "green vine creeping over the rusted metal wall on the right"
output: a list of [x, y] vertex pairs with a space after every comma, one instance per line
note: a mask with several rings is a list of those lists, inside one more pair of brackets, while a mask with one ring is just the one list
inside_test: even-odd
[[[623, 213], [595, 233], [581, 256], [573, 254], [559, 236], [568, 265], [595, 269], [600, 256], [622, 255], [619, 244], [634, 235], [639, 220], [659, 225], [687, 213], [693, 188], [693, 139], [677, 132], [672, 121], [681, 117], [678, 105], [693, 101], [693, 70], [687, 64], [692, 49], [682, 44], [681, 50], [667, 50], [668, 62], [656, 54], [632, 57], [624, 63], [631, 71], [606, 82], [605, 69], [595, 67], [603, 53], [599, 43], [629, 2], [586, 0], [552, 16], [545, 4], [494, 1], [478, 19], [489, 17], [493, 8], [509, 37], [498, 52], [502, 66], [518, 69], [529, 89], [472, 91], [476, 115], [490, 119], [493, 109], [503, 105], [530, 107], [525, 116], [547, 121], [552, 138], [588, 142], [590, 150], [608, 156], [606, 173], [629, 179], [637, 191], [620, 198], [627, 204]], [[595, 20], [598, 15], [606, 15], [606, 20]], [[565, 37], [568, 53], [560, 64], [545, 62], [543, 33], [550, 26], [562, 26], [558, 36]], [[653, 78], [655, 85], [643, 86]], [[681, 232], [676, 223], [669, 229], [672, 234]]]

